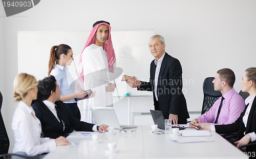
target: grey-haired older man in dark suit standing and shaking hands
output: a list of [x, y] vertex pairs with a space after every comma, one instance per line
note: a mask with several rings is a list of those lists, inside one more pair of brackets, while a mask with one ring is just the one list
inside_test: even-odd
[[180, 61], [165, 52], [161, 35], [153, 35], [148, 43], [155, 60], [150, 65], [150, 82], [139, 81], [133, 85], [138, 90], [152, 91], [155, 110], [163, 112], [165, 119], [174, 124], [186, 124], [189, 118], [186, 99], [182, 93], [182, 68]]

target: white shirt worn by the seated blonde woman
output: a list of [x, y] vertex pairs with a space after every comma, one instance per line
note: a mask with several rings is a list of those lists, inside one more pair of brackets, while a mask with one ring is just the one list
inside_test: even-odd
[[[32, 114], [33, 116], [32, 116]], [[23, 101], [19, 101], [12, 118], [15, 138], [13, 153], [26, 152], [29, 156], [50, 152], [55, 149], [54, 139], [40, 138], [41, 123], [35, 111]]]

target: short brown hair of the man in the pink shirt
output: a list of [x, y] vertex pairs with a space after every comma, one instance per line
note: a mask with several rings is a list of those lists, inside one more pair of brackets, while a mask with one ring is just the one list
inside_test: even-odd
[[217, 74], [220, 75], [221, 81], [226, 81], [227, 85], [233, 87], [234, 81], [236, 81], [236, 76], [234, 76], [234, 72], [230, 69], [221, 69], [217, 71]]

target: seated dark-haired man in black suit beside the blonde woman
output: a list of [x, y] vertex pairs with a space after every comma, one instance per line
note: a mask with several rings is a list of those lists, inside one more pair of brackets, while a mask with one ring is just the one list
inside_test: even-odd
[[[54, 76], [38, 81], [38, 101], [31, 106], [36, 117], [41, 121], [44, 137], [56, 139], [67, 136], [71, 129], [76, 131], [108, 131], [108, 125], [95, 125], [74, 118], [60, 101], [60, 89]], [[55, 103], [55, 104], [54, 104]]]

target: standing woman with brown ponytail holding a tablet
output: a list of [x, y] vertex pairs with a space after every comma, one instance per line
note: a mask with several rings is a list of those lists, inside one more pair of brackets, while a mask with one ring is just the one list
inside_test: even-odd
[[[71, 65], [73, 60], [73, 51], [70, 46], [67, 44], [53, 46], [50, 53], [48, 75], [55, 77], [61, 90], [60, 100], [64, 102], [68, 111], [71, 112], [75, 118], [81, 120], [81, 113], [75, 98], [83, 98], [89, 92], [83, 92], [82, 90], [75, 92], [74, 90], [70, 89], [69, 83], [75, 84], [75, 82], [73, 82], [74, 79], [68, 72], [68, 67], [66, 66]], [[90, 97], [94, 97], [94, 93], [92, 93]]]

